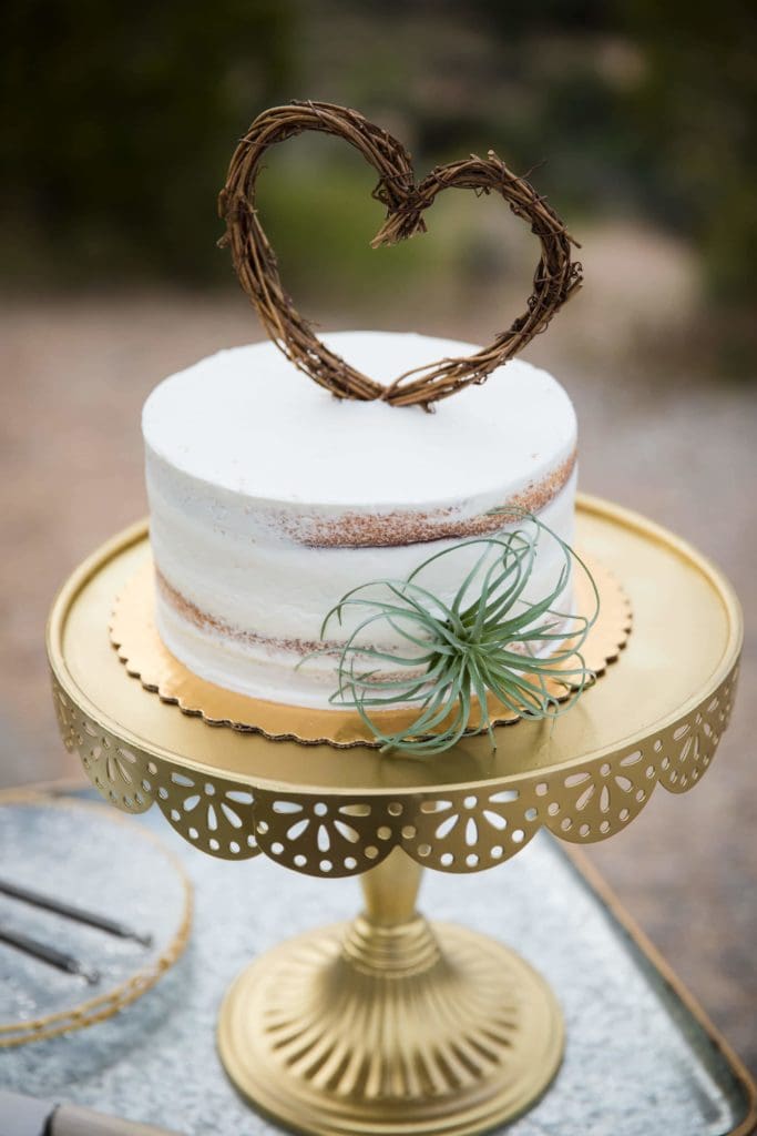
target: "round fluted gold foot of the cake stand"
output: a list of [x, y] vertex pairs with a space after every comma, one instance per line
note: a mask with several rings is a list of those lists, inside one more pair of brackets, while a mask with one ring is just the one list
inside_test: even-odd
[[237, 1088], [292, 1128], [463, 1136], [541, 1095], [563, 1020], [539, 975], [485, 935], [360, 916], [244, 970], [218, 1044]]

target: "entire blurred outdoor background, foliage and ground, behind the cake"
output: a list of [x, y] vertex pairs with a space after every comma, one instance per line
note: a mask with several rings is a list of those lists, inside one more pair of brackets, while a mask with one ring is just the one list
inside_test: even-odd
[[[142, 401], [262, 337], [216, 248], [216, 197], [252, 118], [292, 98], [355, 106], [421, 174], [493, 148], [532, 170], [582, 244], [586, 287], [524, 354], [577, 403], [582, 488], [695, 542], [747, 609], [706, 786], [657, 793], [590, 854], [757, 1068], [754, 8], [6, 0], [0, 20], [0, 784], [76, 771], [44, 618], [69, 569], [145, 512]], [[486, 342], [522, 310], [538, 245], [501, 201], [444, 194], [427, 235], [371, 251], [381, 209], [356, 153], [305, 137], [267, 166], [263, 223], [323, 328]]]

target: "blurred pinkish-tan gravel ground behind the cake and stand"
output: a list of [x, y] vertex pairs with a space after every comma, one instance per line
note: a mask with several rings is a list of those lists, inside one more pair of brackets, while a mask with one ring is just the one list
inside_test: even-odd
[[[687, 381], [653, 365], [663, 326], [692, 302], [680, 250], [615, 233], [634, 282], [613, 275], [594, 242], [594, 279], [577, 317], [561, 316], [525, 358], [550, 366], [581, 426], [581, 487], [681, 533], [730, 575], [747, 612], [733, 722], [706, 787], [666, 793], [590, 855], [747, 1062], [757, 1069], [757, 841], [749, 708], [757, 701], [757, 386]], [[645, 244], [646, 240], [646, 244]], [[605, 258], [603, 267], [603, 257]], [[656, 281], [654, 300], [645, 281]], [[663, 300], [661, 300], [661, 296]], [[573, 306], [571, 306], [572, 309]], [[569, 310], [571, 310], [569, 309]], [[412, 306], [381, 326], [486, 340], [494, 316], [471, 302], [451, 321]], [[352, 326], [328, 318], [326, 326]], [[363, 324], [368, 320], [363, 319]], [[644, 327], [647, 350], [637, 350]], [[220, 346], [259, 339], [241, 296], [185, 294], [10, 300], [0, 315], [0, 784], [75, 771], [48, 693], [43, 627], [58, 584], [78, 560], [145, 512], [138, 415], [151, 387]], [[303, 378], [303, 382], [305, 379]]]

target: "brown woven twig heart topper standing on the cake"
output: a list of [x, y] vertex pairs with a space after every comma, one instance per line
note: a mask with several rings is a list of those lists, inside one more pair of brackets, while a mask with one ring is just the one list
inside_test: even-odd
[[[373, 248], [426, 232], [423, 214], [443, 190], [456, 186], [477, 194], [499, 193], [516, 217], [530, 220], [531, 232], [541, 244], [525, 312], [476, 354], [428, 364], [399, 375], [388, 386], [329, 351], [284, 291], [276, 256], [255, 210], [255, 185], [266, 150], [304, 131], [344, 139], [378, 172], [372, 195], [387, 207], [387, 216], [371, 242]], [[328, 102], [293, 102], [255, 118], [232, 158], [219, 212], [226, 220], [220, 243], [230, 247], [239, 283], [268, 334], [296, 367], [340, 399], [381, 399], [394, 406], [429, 407], [470, 383], [482, 383], [542, 332], [581, 284], [581, 265], [571, 260], [571, 244], [575, 242], [563, 222], [533, 186], [507, 169], [493, 151], [486, 159], [472, 154], [464, 161], [438, 166], [417, 184], [410, 154], [401, 142], [356, 110]]]

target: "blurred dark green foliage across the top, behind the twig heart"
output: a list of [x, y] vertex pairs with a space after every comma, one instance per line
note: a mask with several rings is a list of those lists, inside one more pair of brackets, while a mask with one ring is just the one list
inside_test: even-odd
[[[520, 172], [546, 158], [535, 181], [571, 220], [649, 217], [697, 244], [714, 295], [757, 292], [741, 0], [5, 0], [0, 31], [10, 283], [228, 279], [216, 195], [235, 140], [310, 95], [384, 123], [419, 169], [488, 147]], [[363, 259], [371, 172], [346, 148], [281, 151], [261, 202], [287, 281], [326, 287], [326, 242], [344, 292], [394, 289], [397, 260]], [[406, 272], [464, 262], [461, 234], [412, 242]]]

